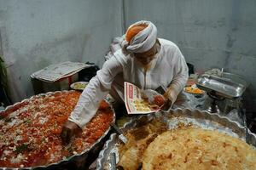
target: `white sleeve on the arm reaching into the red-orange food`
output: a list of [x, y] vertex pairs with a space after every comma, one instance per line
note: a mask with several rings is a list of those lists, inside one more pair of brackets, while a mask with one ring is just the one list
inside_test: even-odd
[[90, 119], [96, 114], [100, 102], [110, 91], [113, 78], [121, 71], [122, 65], [115, 56], [108, 59], [80, 95], [68, 120], [75, 122], [79, 127], [84, 127], [87, 122], [90, 122]]

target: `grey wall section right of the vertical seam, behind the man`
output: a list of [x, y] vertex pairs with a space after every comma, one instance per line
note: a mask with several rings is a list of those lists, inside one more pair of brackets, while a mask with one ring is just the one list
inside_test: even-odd
[[151, 20], [198, 71], [224, 68], [250, 82], [247, 111], [256, 111], [255, 0], [126, 0], [126, 28]]

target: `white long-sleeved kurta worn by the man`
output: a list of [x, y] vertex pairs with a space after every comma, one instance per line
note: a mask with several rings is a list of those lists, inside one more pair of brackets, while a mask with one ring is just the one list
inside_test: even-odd
[[90, 80], [68, 120], [83, 127], [96, 114], [101, 100], [109, 92], [114, 98], [124, 100], [123, 81], [131, 82], [138, 88], [155, 89], [162, 85], [166, 88], [172, 87], [178, 93], [181, 92], [189, 77], [183, 54], [175, 43], [161, 38], [159, 42], [160, 51], [151, 61], [146, 73], [130, 54], [123, 54], [121, 49], [114, 53], [113, 57], [104, 63], [102, 69], [97, 71], [96, 77]]

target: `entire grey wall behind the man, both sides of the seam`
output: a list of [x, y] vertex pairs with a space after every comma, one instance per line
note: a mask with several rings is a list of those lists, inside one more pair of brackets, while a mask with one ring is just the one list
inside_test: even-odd
[[[218, 67], [251, 85], [256, 105], [255, 0], [124, 0], [125, 26], [152, 20], [198, 71]], [[29, 76], [61, 61], [102, 65], [113, 37], [122, 33], [121, 0], [0, 0], [0, 54], [9, 66], [14, 101], [31, 96]]]

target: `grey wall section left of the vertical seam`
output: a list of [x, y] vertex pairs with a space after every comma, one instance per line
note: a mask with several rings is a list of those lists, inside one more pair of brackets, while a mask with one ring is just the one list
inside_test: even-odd
[[119, 0], [0, 0], [0, 44], [14, 102], [33, 94], [30, 75], [47, 65], [102, 65], [111, 39], [121, 35], [121, 12]]

